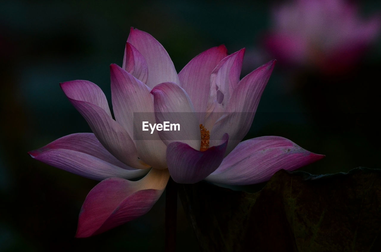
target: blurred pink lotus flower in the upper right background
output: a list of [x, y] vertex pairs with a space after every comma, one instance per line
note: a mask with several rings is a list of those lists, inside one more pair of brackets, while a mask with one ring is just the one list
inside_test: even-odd
[[344, 0], [294, 0], [274, 9], [269, 51], [282, 62], [343, 71], [377, 38], [380, 18], [363, 21]]

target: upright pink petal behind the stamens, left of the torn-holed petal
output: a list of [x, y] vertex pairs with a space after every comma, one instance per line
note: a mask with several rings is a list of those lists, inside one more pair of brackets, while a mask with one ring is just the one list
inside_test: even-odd
[[[179, 72], [181, 87], [191, 99], [196, 112], [205, 112], [210, 92], [210, 75], [217, 64], [227, 56], [224, 45], [216, 46], [194, 57]], [[199, 124], [204, 123], [205, 115], [199, 113]]]

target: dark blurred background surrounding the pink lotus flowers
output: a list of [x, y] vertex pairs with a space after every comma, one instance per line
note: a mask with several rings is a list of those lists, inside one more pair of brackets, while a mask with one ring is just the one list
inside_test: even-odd
[[[247, 48], [242, 77], [274, 58], [263, 38], [281, 1], [0, 2], [0, 250], [163, 250], [164, 197], [149, 214], [89, 239], [75, 239], [80, 207], [96, 181], [45, 165], [27, 151], [90, 132], [59, 83], [89, 80], [110, 102], [109, 64], [122, 65], [130, 27], [153, 35], [179, 72], [192, 57], [225, 44]], [[352, 1], [353, 2], [353, 1]], [[358, 2], [360, 17], [379, 1]], [[313, 174], [379, 167], [380, 37], [339, 74], [278, 62], [247, 138], [283, 136], [321, 161]], [[179, 203], [181, 251], [198, 250]], [[180, 250], [179, 250], [180, 251]]]

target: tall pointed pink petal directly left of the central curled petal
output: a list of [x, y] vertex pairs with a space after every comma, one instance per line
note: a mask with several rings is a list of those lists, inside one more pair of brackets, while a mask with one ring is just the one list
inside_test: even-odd
[[[118, 65], [111, 64], [111, 95], [115, 119], [133, 136], [140, 159], [152, 167], [166, 168], [166, 145], [157, 131], [146, 137], [142, 122], [155, 123], [154, 98], [149, 88]], [[139, 113], [142, 112], [142, 113]]]

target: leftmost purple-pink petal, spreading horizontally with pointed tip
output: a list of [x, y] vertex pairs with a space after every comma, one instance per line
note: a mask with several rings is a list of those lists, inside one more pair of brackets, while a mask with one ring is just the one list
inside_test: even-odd
[[120, 162], [92, 133], [64, 136], [28, 153], [43, 163], [94, 180], [109, 177], [134, 179], [148, 172]]

